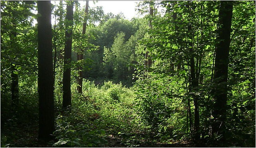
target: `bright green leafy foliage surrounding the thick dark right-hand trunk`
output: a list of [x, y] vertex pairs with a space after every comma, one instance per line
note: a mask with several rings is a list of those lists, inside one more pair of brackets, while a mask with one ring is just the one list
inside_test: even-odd
[[[188, 132], [188, 129], [190, 129], [190, 132], [193, 132], [193, 118], [195, 117], [193, 116], [194, 105], [192, 104], [193, 100], [191, 97], [197, 96], [199, 98], [201, 137], [203, 139], [209, 139], [209, 136], [211, 136], [211, 140], [213, 140], [214, 136], [210, 133], [211, 124], [214, 122], [211, 120], [212, 105], [214, 103], [211, 91], [217, 87], [212, 83], [212, 80], [216, 35], [218, 31], [219, 2], [162, 1], [160, 5], [166, 8], [164, 16], [157, 15], [157, 12], [155, 12], [156, 15], [154, 17], [148, 16], [149, 19], [153, 19], [153, 29], [148, 31], [149, 35], [145, 36], [141, 41], [141, 44], [146, 46], [146, 51], [149, 52], [154, 63], [148, 68], [143, 66], [144, 61], [140, 61], [136, 68], [138, 77], [136, 82], [136, 89], [138, 90], [138, 112], [142, 115], [142, 121], [155, 127], [160, 123], [164, 123], [164, 120], [169, 121], [173, 120], [173, 117], [179, 117], [181, 121], [176, 122], [183, 125], [183, 127], [178, 128], [179, 133], [185, 134], [185, 131]], [[255, 6], [255, 4], [252, 2], [234, 3], [231, 26], [233, 33], [231, 33], [230, 37], [230, 62], [228, 70], [228, 117], [226, 120], [226, 132], [230, 134], [227, 138], [233, 144], [238, 144], [233, 139], [237, 135], [241, 136], [242, 130], [239, 133], [237, 130], [239, 127], [243, 127], [242, 125], [236, 125], [236, 128], [233, 127], [234, 117], [236, 123], [243, 124], [248, 120], [242, 116], [247, 116], [252, 112], [255, 113], [255, 110], [250, 111], [250, 109], [255, 108], [255, 103], [253, 103], [254, 105], [251, 104], [252, 108], [249, 106], [242, 107], [242, 104], [247, 104], [255, 100], [255, 60], [250, 59], [247, 60], [248, 64], [242, 64], [242, 61], [245, 62], [246, 59], [255, 57], [255, 40], [250, 40], [252, 39], [250, 35], [255, 37], [255, 34], [254, 32], [250, 32], [250, 29], [246, 29], [245, 31], [245, 28], [248, 28], [248, 26], [255, 25], [255, 9], [251, 6]], [[248, 8], [248, 11], [241, 11], [241, 8], [245, 7], [246, 9]], [[241, 19], [242, 16], [244, 17], [243, 19]], [[191, 26], [192, 29], [189, 30], [188, 26]], [[255, 27], [250, 28], [255, 30]], [[239, 35], [237, 34], [238, 32]], [[241, 48], [244, 48], [244, 50]], [[143, 48], [141, 51], [143, 51]], [[246, 54], [246, 56], [243, 54]], [[199, 82], [199, 86], [195, 89], [191, 89], [191, 59], [195, 60], [195, 77]], [[234, 69], [239, 72], [234, 72]], [[242, 69], [243, 71], [240, 71]], [[246, 77], [243, 74], [245, 71], [246, 75], [250, 73], [250, 76]], [[253, 78], [253, 80], [250, 78]], [[176, 88], [168, 89], [172, 86], [175, 87], [176, 82], [180, 82]], [[168, 87], [167, 84], [170, 84], [170, 86]], [[245, 91], [246, 89], [248, 90]], [[164, 101], [166, 94], [169, 94], [166, 99], [169, 102]], [[183, 96], [181, 97], [183, 99], [180, 99], [181, 104], [178, 103], [179, 99], [177, 99], [177, 96]], [[171, 103], [172, 101], [178, 101], [175, 105], [179, 104], [179, 108], [184, 107], [183, 109], [181, 108], [183, 113], [176, 115], [175, 113], [165, 114], [164, 107], [173, 105]], [[191, 108], [191, 111], [189, 111], [188, 107]], [[243, 111], [240, 111], [240, 107], [242, 107]], [[171, 111], [173, 109], [166, 110]], [[189, 117], [189, 114], [192, 117]], [[172, 115], [173, 117], [168, 115]], [[191, 121], [189, 121], [190, 119]], [[248, 117], [247, 119], [250, 120], [248, 123], [250, 122], [252, 125], [255, 125], [254, 117]], [[175, 123], [169, 123], [168, 125], [177, 126]], [[192, 130], [189, 128], [189, 125], [191, 125]], [[250, 132], [247, 130], [248, 134], [245, 134], [245, 129], [243, 130], [243, 138], [254, 138], [254, 134], [252, 133], [254, 133], [255, 128], [253, 127], [251, 129]], [[217, 140], [220, 137], [215, 138]], [[244, 146], [250, 144], [253, 145], [253, 143], [248, 142], [246, 144], [244, 143]], [[242, 143], [238, 145], [242, 145]]]

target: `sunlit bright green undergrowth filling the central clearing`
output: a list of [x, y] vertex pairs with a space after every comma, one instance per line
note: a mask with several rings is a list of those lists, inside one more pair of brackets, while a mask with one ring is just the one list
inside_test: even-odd
[[[95, 86], [84, 81], [83, 86], [83, 95], [76, 93], [75, 84], [72, 86], [70, 111], [58, 110], [54, 133], [58, 142], [53, 146], [104, 146], [110, 135], [133, 132], [136, 113], [132, 90], [112, 82]], [[61, 108], [58, 105], [57, 109]]]

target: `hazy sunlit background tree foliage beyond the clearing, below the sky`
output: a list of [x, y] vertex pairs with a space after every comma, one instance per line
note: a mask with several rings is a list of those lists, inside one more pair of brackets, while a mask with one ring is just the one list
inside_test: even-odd
[[[111, 14], [107, 15], [111, 16]], [[134, 18], [131, 21], [128, 21], [123, 18], [118, 18], [118, 16], [111, 16], [109, 19], [106, 19], [105, 22], [102, 21], [100, 25], [89, 28], [87, 33], [95, 36], [95, 39], [89, 39], [89, 43], [99, 46], [99, 50], [85, 52], [85, 58], [90, 58], [92, 62], [86, 64], [90, 70], [85, 72], [84, 76], [88, 79], [103, 79], [103, 82], [104, 80], [112, 80], [115, 83], [123, 82], [127, 86], [131, 86], [132, 81], [130, 79], [132, 78], [134, 68], [128, 66], [128, 64], [134, 64], [136, 62], [137, 55], [135, 55], [135, 51], [138, 46], [136, 42], [144, 36], [143, 33], [146, 32], [144, 29], [145, 24], [145, 19]], [[118, 34], [120, 33], [124, 33], [124, 43], [115, 41], [118, 39]], [[111, 49], [114, 42], [116, 42], [114, 54], [116, 55], [119, 53], [118, 55], [120, 55], [120, 53], [122, 53], [124, 57], [121, 58], [120, 56], [117, 56], [116, 59], [110, 60], [112, 57], [110, 55], [113, 55], [113, 52], [108, 52], [107, 49]], [[118, 68], [114, 68], [112, 63]], [[95, 69], [93, 67], [98, 68]], [[113, 77], [114, 75], [116, 77]], [[127, 79], [130, 81], [126, 82]]]

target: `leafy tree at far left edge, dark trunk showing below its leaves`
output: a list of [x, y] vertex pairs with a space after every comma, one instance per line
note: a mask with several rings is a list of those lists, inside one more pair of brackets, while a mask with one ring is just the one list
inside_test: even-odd
[[[1, 2], [1, 65], [3, 64], [4, 69], [7, 68], [8, 70], [6, 71], [10, 72], [10, 80], [6, 76], [4, 78], [11, 83], [10, 103], [12, 111], [15, 111], [19, 106], [19, 78], [22, 75], [21, 69], [25, 69], [25, 63], [30, 62], [22, 60], [25, 56], [29, 58], [23, 48], [23, 45], [29, 41], [24, 37], [26, 31], [22, 34], [20, 28], [23, 30], [30, 29], [31, 22], [27, 18], [32, 15], [31, 9], [33, 9], [33, 2]], [[24, 43], [24, 39], [26, 43]], [[1, 71], [1, 76], [4, 75], [3, 73], [6, 73], [4, 71]]]

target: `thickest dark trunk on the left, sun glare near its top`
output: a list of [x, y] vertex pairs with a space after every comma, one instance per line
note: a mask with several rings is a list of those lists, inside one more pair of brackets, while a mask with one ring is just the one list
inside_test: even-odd
[[51, 140], [54, 128], [53, 57], [51, 35], [51, 2], [38, 1], [38, 93], [40, 140]]

